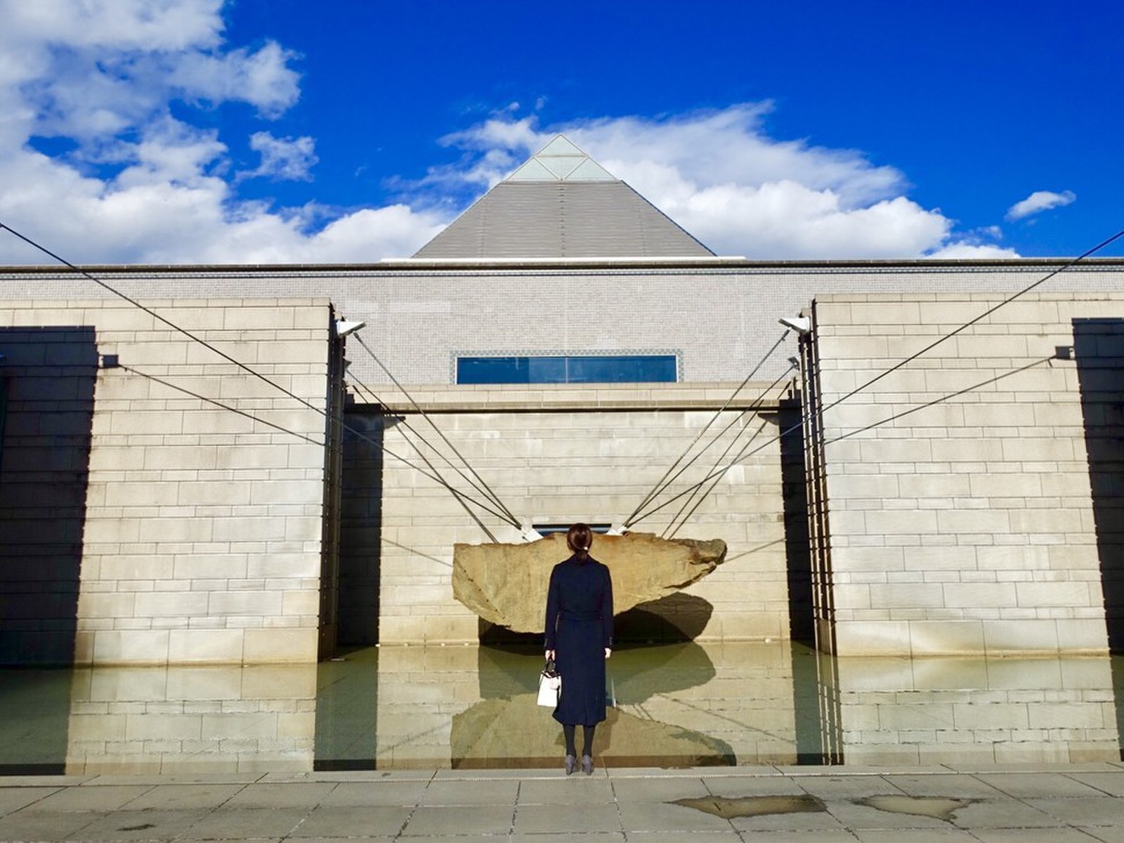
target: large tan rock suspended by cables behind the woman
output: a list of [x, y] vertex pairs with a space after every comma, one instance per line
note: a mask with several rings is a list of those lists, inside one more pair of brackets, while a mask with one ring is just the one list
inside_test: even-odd
[[[613, 609], [619, 614], [706, 577], [726, 558], [726, 543], [628, 533], [597, 536], [590, 553], [613, 572]], [[543, 632], [551, 569], [569, 555], [562, 534], [528, 544], [456, 544], [453, 596], [484, 620]]]

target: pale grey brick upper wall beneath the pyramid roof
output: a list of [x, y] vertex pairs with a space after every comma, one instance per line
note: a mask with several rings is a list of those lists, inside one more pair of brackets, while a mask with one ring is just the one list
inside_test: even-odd
[[[402, 383], [453, 382], [456, 355], [676, 353], [680, 380], [738, 381], [795, 316], [823, 293], [1019, 290], [1061, 261], [723, 261], [629, 265], [433, 264], [368, 266], [91, 268], [135, 298], [275, 298], [316, 290], [336, 312], [368, 324], [371, 350]], [[0, 269], [0, 300], [108, 296], [88, 279], [47, 268]], [[1050, 280], [1052, 290], [1124, 291], [1118, 259], [1091, 259]], [[158, 292], [157, 292], [158, 291]], [[772, 355], [769, 381], [794, 353]], [[351, 372], [390, 382], [360, 350]]]

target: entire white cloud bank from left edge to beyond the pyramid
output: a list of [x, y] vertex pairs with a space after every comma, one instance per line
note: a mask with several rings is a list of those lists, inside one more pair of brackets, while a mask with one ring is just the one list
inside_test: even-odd
[[[0, 0], [3, 221], [91, 263], [401, 257], [562, 130], [719, 254], [1013, 254], [990, 245], [998, 233], [954, 234], [954, 220], [907, 197], [894, 167], [769, 136], [769, 102], [549, 130], [511, 103], [443, 138], [460, 160], [404, 183], [397, 205], [246, 201], [237, 189], [251, 178], [309, 181], [316, 142], [192, 125], [191, 107], [237, 101], [272, 120], [300, 98], [299, 57], [275, 42], [228, 44], [221, 9], [223, 0]], [[187, 108], [173, 114], [173, 102]], [[67, 152], [37, 152], [49, 138]], [[238, 172], [229, 147], [244, 140], [261, 160]], [[0, 236], [0, 261], [45, 260]]]

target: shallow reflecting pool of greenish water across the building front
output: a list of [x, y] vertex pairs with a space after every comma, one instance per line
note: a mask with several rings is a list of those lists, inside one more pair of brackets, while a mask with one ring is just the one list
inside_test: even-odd
[[[472, 645], [0, 671], [0, 772], [555, 767], [561, 729], [535, 705], [541, 667], [537, 650]], [[1120, 760], [1122, 668], [833, 660], [788, 642], [624, 647], [595, 751], [610, 767]]]

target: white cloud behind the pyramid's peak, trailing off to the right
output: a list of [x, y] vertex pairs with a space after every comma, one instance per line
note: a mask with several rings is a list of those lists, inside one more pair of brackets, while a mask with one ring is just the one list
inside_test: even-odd
[[954, 220], [906, 197], [906, 179], [894, 167], [877, 166], [854, 149], [770, 137], [763, 120], [771, 110], [769, 102], [743, 103], [549, 129], [540, 129], [535, 117], [515, 119], [505, 111], [446, 136], [446, 145], [469, 157], [435, 167], [419, 187], [490, 187], [561, 132], [718, 254], [877, 259], [959, 248], [1015, 255], [978, 236], [954, 235]]

